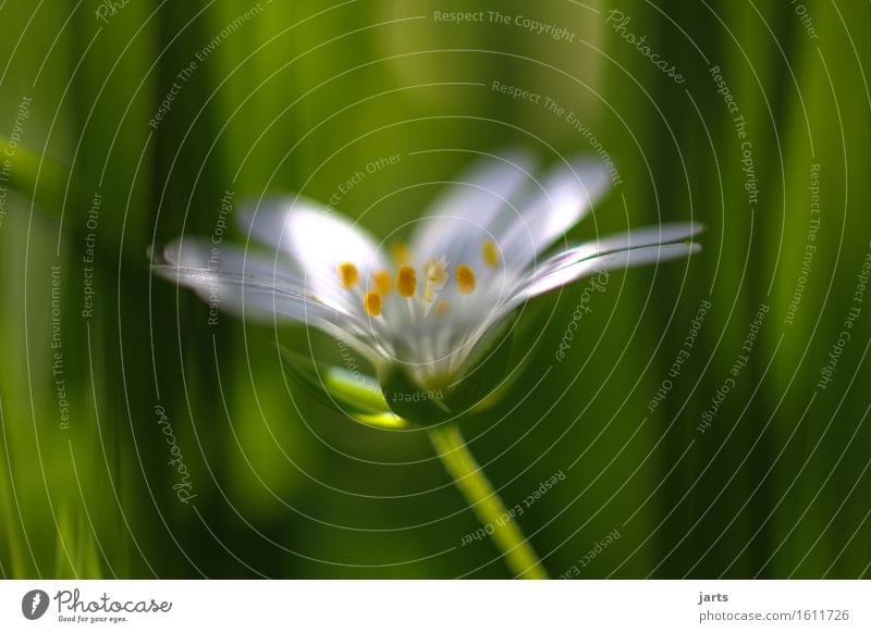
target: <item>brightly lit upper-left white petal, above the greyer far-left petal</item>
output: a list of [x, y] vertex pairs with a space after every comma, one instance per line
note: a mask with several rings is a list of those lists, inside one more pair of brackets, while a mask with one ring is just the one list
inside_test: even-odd
[[309, 277], [316, 293], [338, 285], [340, 263], [361, 273], [384, 266], [378, 244], [359, 225], [303, 197], [261, 200], [240, 211], [240, 223], [262, 244], [290, 256]]

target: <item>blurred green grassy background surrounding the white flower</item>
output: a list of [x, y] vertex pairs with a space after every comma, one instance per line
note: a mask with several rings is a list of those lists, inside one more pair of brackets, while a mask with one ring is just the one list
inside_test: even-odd
[[[437, 20], [450, 11], [483, 21]], [[516, 397], [464, 426], [508, 507], [566, 475], [519, 518], [551, 574], [869, 575], [868, 2], [50, 0], [3, 3], [0, 23], [3, 576], [508, 574], [489, 542], [462, 545], [478, 523], [425, 434], [323, 408], [286, 380], [271, 328], [209, 326], [147, 258], [211, 235], [228, 190], [329, 201], [401, 154], [335, 204], [385, 235], [475, 152], [594, 153], [494, 80], [574, 112], [617, 164], [572, 239], [708, 226], [690, 261], [613, 274], [562, 362], [584, 282], [539, 299]], [[307, 349], [305, 331], [281, 337]]]

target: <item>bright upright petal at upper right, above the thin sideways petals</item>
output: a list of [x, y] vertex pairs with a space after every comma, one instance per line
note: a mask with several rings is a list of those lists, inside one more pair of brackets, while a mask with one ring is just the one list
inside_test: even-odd
[[554, 167], [499, 239], [512, 266], [527, 266], [580, 222], [610, 187], [601, 161], [582, 158]]

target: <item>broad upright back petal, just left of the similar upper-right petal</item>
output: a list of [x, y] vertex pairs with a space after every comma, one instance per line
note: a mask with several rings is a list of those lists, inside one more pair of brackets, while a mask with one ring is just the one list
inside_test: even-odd
[[410, 240], [420, 261], [444, 256], [449, 263], [475, 263], [488, 239], [510, 224], [516, 195], [531, 182], [532, 159], [512, 150], [477, 161], [424, 213]]

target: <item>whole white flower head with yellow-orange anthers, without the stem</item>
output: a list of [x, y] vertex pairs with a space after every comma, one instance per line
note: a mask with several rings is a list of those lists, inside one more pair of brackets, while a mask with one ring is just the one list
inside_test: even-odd
[[491, 158], [449, 188], [407, 241], [379, 243], [302, 198], [260, 201], [238, 220], [259, 250], [181, 238], [159, 274], [222, 310], [307, 323], [377, 368], [401, 367], [419, 389], [462, 376], [476, 349], [529, 299], [580, 277], [684, 257], [700, 227], [667, 224], [603, 237], [543, 258], [609, 188], [598, 161], [564, 161], [539, 181], [518, 152]]

